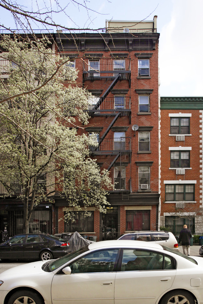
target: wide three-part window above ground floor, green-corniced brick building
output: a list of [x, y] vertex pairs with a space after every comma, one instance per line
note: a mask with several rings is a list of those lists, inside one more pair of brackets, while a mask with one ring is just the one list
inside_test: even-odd
[[194, 201], [194, 197], [193, 184], [166, 185], [166, 201]]

